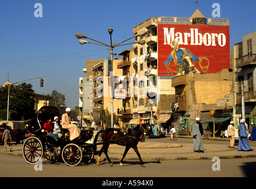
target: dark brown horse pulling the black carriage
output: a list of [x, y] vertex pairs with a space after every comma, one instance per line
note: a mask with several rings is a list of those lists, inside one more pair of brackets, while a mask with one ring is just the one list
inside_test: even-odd
[[[139, 125], [136, 128], [128, 129], [127, 133], [120, 131], [120, 129], [114, 129], [114, 128], [108, 128], [105, 130], [101, 130], [100, 132], [101, 132], [101, 139], [103, 140], [103, 146], [101, 147], [100, 152], [98, 154], [97, 165], [100, 165], [100, 157], [102, 152], [104, 152], [110, 166], [113, 166], [110, 158], [108, 157], [107, 151], [110, 144], [117, 144], [121, 146], [126, 146], [123, 157], [121, 158], [121, 161], [120, 161], [120, 167], [123, 167], [123, 159], [124, 157], [126, 157], [126, 154], [130, 148], [134, 149], [137, 156], [139, 157], [140, 164], [142, 165], [142, 167], [145, 167], [145, 164], [143, 163], [142, 158], [140, 157], [139, 151], [137, 149], [137, 144], [140, 141], [140, 136], [142, 136], [144, 132], [148, 135], [153, 135], [153, 132], [150, 126], [147, 126], [146, 124]], [[117, 140], [120, 139], [120, 140], [113, 141], [116, 139]]]

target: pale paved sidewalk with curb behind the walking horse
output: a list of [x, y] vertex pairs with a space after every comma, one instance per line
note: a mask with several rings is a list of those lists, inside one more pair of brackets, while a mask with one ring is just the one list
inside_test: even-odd
[[[179, 138], [190, 138], [190, 136], [179, 136]], [[204, 143], [204, 153], [193, 151], [193, 142], [179, 144], [177, 141], [169, 141], [168, 143], [155, 142], [139, 142], [138, 149], [143, 161], [169, 161], [169, 160], [185, 160], [185, 159], [212, 159], [219, 157], [220, 159], [231, 158], [252, 158], [256, 157], [256, 142], [251, 142], [250, 145], [254, 151], [244, 152], [238, 151], [238, 144], [235, 144], [235, 149], [229, 148], [229, 139], [210, 138], [210, 140], [227, 141], [225, 144], [206, 144]], [[147, 141], [147, 140], [146, 140]], [[204, 141], [203, 141], [204, 142]], [[22, 144], [15, 146], [12, 144], [12, 152], [4, 152], [4, 146], [0, 146], [0, 155], [15, 155], [23, 157]], [[100, 150], [101, 145], [97, 146]], [[111, 144], [108, 148], [108, 156], [113, 160], [121, 159], [124, 152], [124, 147], [116, 144]], [[95, 155], [97, 157], [97, 155]], [[101, 159], [105, 158], [105, 154], [101, 155]], [[124, 160], [138, 161], [135, 151], [130, 149]]]

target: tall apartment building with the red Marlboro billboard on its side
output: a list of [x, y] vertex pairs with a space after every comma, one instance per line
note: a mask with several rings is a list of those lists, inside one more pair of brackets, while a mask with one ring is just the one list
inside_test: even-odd
[[[200, 87], [206, 86], [212, 89], [207, 91], [207, 94], [216, 89], [221, 93], [217, 83], [229, 89], [226, 81], [220, 81], [220, 77], [218, 78], [219, 74], [226, 73], [226, 77], [231, 79], [229, 19], [207, 19], [199, 9], [196, 9], [190, 18], [149, 18], [136, 25], [133, 34], [136, 35], [136, 42], [145, 41], [145, 44], [133, 45], [136, 76], [140, 78], [136, 86], [137, 94], [141, 94], [142, 91], [151, 96], [154, 96], [153, 93], [157, 94], [157, 99], [153, 103], [149, 95], [138, 95], [138, 105], [133, 107], [134, 118], [137, 116], [142, 120], [140, 123], [145, 123], [152, 115], [155, 118], [154, 122], [175, 125], [182, 129], [184, 126], [188, 128], [194, 119], [199, 117], [204, 120], [206, 129], [206, 120], [215, 112], [213, 107], [220, 106], [217, 109], [225, 109], [227, 103], [219, 105], [215, 97], [212, 102], [202, 97], [199, 98], [202, 100], [193, 100], [193, 95], [201, 93]], [[226, 72], [222, 69], [226, 69]], [[199, 78], [197, 74], [205, 75]], [[216, 81], [208, 83], [208, 77]], [[194, 83], [191, 85], [192, 80]], [[196, 86], [199, 87], [197, 89], [194, 86], [195, 82], [200, 83]], [[194, 89], [191, 90], [191, 87]], [[203, 90], [202, 93], [204, 92]], [[225, 90], [220, 99], [229, 99], [226, 95], [230, 93], [231, 89]]]

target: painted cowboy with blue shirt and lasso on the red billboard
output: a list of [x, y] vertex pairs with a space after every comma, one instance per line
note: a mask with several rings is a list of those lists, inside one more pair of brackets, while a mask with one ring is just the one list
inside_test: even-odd
[[[174, 72], [176, 72], [176, 76], [184, 76], [189, 72], [200, 73], [200, 71], [197, 70], [194, 66], [193, 61], [199, 61], [199, 66], [201, 67], [203, 72], [206, 72], [208, 70], [209, 60], [207, 58], [196, 57], [189, 50], [185, 48], [180, 48], [179, 41], [177, 40], [172, 40], [170, 45], [172, 48], [174, 48], [174, 50], [169, 55], [168, 60], [164, 62], [165, 66], [167, 67], [168, 76], [169, 72], [172, 74], [172, 76], [174, 76]], [[203, 59], [208, 60], [207, 66], [201, 66], [201, 61]], [[173, 71], [171, 69], [171, 61], [174, 61], [174, 64], [177, 67], [177, 71]]]

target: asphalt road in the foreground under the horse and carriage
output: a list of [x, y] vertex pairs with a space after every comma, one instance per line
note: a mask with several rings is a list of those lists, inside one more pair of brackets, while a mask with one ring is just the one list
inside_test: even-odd
[[[207, 160], [146, 161], [143, 168], [137, 161], [95, 163], [69, 167], [63, 162], [30, 165], [23, 157], [0, 156], [0, 177], [255, 177], [256, 158], [220, 159], [220, 171], [213, 171], [215, 162]], [[216, 166], [214, 166], [216, 168]], [[35, 170], [39, 170], [36, 171]], [[40, 171], [41, 170], [41, 171]]]

